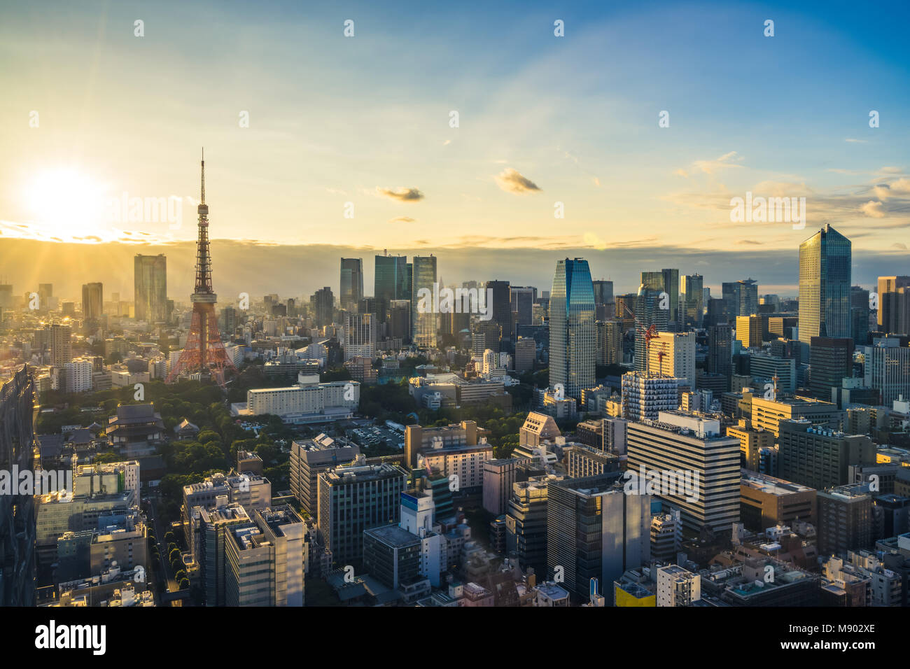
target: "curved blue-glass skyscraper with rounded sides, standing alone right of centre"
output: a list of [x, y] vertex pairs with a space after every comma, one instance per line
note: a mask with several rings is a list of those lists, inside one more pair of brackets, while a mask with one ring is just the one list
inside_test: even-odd
[[583, 258], [556, 261], [550, 294], [550, 386], [579, 399], [594, 386], [597, 355], [594, 288]]

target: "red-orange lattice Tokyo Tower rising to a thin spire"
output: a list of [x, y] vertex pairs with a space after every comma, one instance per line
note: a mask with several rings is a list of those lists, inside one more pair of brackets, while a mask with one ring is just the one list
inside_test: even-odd
[[202, 197], [199, 199], [199, 238], [196, 243], [196, 290], [190, 296], [193, 302], [193, 320], [187, 336], [187, 345], [180, 353], [174, 369], [167, 375], [167, 383], [181, 376], [201, 374], [204, 380], [212, 378], [224, 386], [225, 371], [234, 370], [234, 363], [227, 358], [227, 350], [218, 332], [215, 303], [218, 296], [212, 289], [212, 260], [208, 248], [208, 205], [206, 204], [206, 153], [202, 152]]

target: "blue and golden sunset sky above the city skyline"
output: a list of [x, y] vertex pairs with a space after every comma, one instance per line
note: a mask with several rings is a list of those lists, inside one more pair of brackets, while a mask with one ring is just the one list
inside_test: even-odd
[[[0, 278], [14, 239], [178, 252], [203, 146], [211, 237], [250, 263], [300, 249], [268, 292], [335, 285], [304, 262], [329, 248], [368, 283], [389, 248], [439, 255], [447, 280], [545, 286], [564, 254], [618, 291], [662, 267], [785, 291], [780, 260], [824, 223], [854, 275], [907, 273], [906, 3], [309, 5], [5, 7]], [[748, 193], [805, 198], [804, 228], [733, 220]]]

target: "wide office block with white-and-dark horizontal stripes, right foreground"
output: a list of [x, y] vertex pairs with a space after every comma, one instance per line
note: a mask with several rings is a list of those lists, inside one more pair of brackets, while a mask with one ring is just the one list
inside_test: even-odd
[[721, 534], [739, 522], [740, 441], [721, 436], [720, 421], [661, 411], [657, 421], [629, 423], [626, 448], [628, 471], [662, 472], [656, 496], [679, 509], [683, 527]]

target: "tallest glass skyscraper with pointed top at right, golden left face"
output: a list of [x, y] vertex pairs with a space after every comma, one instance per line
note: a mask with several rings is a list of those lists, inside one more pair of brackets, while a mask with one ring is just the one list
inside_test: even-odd
[[826, 225], [799, 246], [799, 340], [850, 337], [852, 250]]

